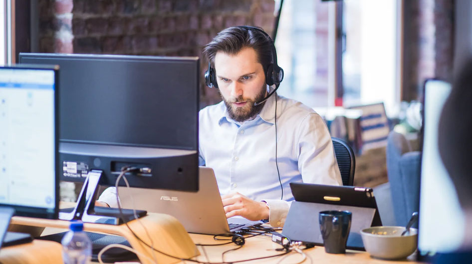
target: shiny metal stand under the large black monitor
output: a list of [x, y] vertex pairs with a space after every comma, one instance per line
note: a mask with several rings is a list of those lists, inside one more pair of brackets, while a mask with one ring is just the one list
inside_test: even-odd
[[[95, 200], [98, 193], [98, 183], [103, 175], [103, 171], [91, 170], [85, 179], [80, 191], [77, 204], [74, 208], [61, 209], [59, 219], [61, 220], [82, 220], [86, 223], [100, 223], [110, 225], [120, 225], [134, 220], [133, 210], [109, 207], [95, 207]], [[147, 214], [146, 211], [136, 210], [138, 217]]]

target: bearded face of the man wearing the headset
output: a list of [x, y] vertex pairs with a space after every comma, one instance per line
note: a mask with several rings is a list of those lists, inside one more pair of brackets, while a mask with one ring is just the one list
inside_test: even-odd
[[254, 102], [266, 94], [265, 74], [253, 48], [244, 48], [236, 55], [217, 52], [215, 71], [232, 119], [242, 122], [260, 112], [264, 104], [254, 106]]

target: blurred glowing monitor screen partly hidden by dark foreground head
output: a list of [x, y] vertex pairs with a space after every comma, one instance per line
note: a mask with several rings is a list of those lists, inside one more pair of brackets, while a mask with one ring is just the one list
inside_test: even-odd
[[439, 119], [450, 92], [451, 84], [447, 82], [425, 82], [418, 239], [420, 258], [454, 251], [464, 239], [463, 212], [438, 148]]

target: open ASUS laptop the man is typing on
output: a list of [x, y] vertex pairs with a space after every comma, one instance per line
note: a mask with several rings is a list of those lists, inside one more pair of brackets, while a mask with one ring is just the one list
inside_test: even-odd
[[242, 217], [226, 218], [215, 172], [208, 167], [199, 169], [197, 192], [118, 188], [122, 207], [133, 208], [131, 194], [136, 209], [172, 215], [189, 233], [218, 235], [261, 224]]

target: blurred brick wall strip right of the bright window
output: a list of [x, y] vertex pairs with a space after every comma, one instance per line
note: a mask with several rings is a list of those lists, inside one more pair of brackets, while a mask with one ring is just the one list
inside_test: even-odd
[[454, 2], [405, 1], [402, 99], [421, 99], [427, 78], [452, 79]]

